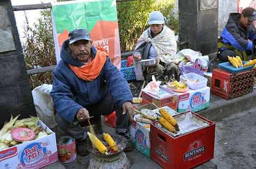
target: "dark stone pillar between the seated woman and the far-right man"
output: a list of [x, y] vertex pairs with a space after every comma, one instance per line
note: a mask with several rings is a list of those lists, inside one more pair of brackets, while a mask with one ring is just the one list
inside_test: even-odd
[[218, 0], [179, 0], [180, 41], [212, 57], [217, 54]]

